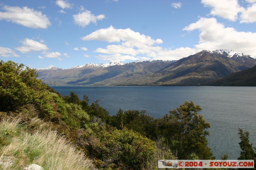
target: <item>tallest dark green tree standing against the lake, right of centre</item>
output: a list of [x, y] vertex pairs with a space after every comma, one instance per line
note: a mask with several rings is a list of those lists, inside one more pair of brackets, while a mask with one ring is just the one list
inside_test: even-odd
[[159, 129], [164, 129], [164, 136], [169, 140], [173, 150], [177, 150], [180, 159], [190, 159], [191, 154], [196, 154], [199, 159], [211, 159], [212, 152], [207, 147], [206, 136], [209, 136], [210, 123], [207, 123], [199, 112], [202, 108], [191, 101], [186, 101], [180, 107], [171, 110], [170, 115], [165, 115], [164, 124]]

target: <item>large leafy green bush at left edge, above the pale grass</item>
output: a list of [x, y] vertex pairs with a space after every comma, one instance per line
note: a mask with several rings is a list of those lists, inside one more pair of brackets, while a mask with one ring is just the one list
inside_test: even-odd
[[[36, 103], [40, 91], [50, 88], [36, 79], [36, 69], [12, 61], [0, 62], [0, 111], [12, 111], [25, 104]], [[41, 107], [41, 106], [39, 106]]]

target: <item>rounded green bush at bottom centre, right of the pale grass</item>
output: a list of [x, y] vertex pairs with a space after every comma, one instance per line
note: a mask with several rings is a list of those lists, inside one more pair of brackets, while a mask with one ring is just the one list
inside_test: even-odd
[[84, 137], [89, 144], [88, 150], [104, 161], [101, 166], [122, 162], [124, 166], [141, 169], [143, 162], [154, 156], [155, 142], [133, 130], [108, 127], [92, 133], [87, 130]]

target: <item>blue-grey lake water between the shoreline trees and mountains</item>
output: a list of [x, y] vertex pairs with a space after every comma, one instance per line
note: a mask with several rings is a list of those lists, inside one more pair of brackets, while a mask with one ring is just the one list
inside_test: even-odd
[[110, 115], [119, 108], [148, 111], [159, 118], [185, 101], [202, 107], [201, 115], [211, 123], [208, 146], [216, 158], [228, 153], [237, 159], [240, 153], [238, 128], [250, 132], [256, 145], [256, 87], [194, 87], [194, 86], [52, 86], [62, 95], [75, 92], [80, 99], [97, 99]]

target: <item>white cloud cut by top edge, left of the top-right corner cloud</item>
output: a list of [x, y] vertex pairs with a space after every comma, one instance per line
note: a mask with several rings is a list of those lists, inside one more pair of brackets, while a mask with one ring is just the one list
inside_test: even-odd
[[212, 8], [210, 14], [213, 16], [219, 16], [230, 21], [236, 21], [238, 13], [244, 11], [237, 0], [202, 0], [201, 2], [204, 6]]

